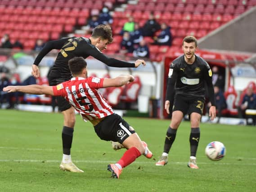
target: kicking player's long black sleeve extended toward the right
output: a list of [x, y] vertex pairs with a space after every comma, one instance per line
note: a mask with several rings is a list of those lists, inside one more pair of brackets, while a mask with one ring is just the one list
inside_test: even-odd
[[117, 60], [115, 58], [109, 58], [99, 51], [97, 47], [87, 48], [86, 49], [86, 57], [87, 54], [94, 57], [95, 59], [105, 63], [109, 67], [135, 67], [135, 63], [128, 63], [125, 61]]

